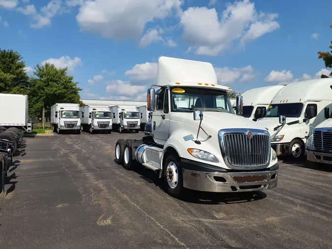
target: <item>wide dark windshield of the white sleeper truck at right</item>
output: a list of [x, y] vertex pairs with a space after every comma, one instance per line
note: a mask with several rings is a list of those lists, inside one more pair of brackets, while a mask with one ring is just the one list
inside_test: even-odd
[[299, 118], [303, 109], [303, 103], [285, 103], [285, 104], [272, 104], [269, 106], [266, 113], [266, 118], [278, 118], [280, 115]]

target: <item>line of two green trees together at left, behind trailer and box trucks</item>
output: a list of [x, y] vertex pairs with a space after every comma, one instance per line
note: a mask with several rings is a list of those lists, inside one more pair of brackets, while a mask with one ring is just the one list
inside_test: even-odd
[[45, 113], [55, 103], [81, 103], [78, 82], [67, 75], [67, 67], [54, 64], [37, 64], [29, 76], [26, 63], [20, 53], [0, 48], [0, 93], [28, 94], [29, 116], [41, 117], [44, 103]]

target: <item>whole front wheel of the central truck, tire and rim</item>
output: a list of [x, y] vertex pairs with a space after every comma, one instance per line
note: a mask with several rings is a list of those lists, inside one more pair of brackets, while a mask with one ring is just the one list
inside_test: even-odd
[[178, 156], [169, 155], [166, 157], [163, 166], [163, 176], [167, 192], [175, 198], [180, 197], [184, 188], [180, 158]]

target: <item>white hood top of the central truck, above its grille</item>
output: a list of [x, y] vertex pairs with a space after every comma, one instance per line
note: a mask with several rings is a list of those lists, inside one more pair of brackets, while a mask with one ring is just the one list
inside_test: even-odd
[[[190, 124], [198, 127], [200, 121], [194, 120], [193, 113], [172, 113], [171, 120], [181, 123]], [[217, 135], [220, 129], [225, 128], [248, 128], [248, 129], [263, 129], [263, 125], [251, 121], [242, 116], [237, 116], [225, 112], [203, 112], [202, 128], [207, 132]]]

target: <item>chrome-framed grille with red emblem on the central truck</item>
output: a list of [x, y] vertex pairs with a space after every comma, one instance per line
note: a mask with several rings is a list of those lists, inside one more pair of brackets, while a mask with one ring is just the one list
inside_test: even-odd
[[[270, 134], [258, 129], [228, 129], [219, 132], [221, 151], [229, 166], [259, 167], [270, 162]], [[251, 136], [247, 134], [250, 132]]]

